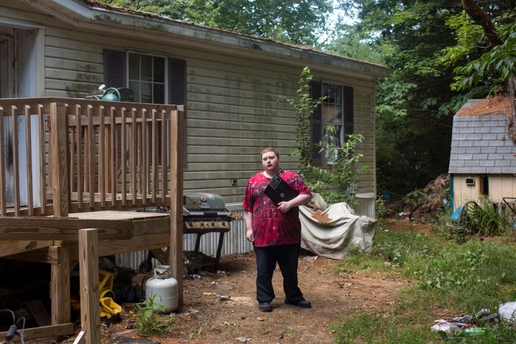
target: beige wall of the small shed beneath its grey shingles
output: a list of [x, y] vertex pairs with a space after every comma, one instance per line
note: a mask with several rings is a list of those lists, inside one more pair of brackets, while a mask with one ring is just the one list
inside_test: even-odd
[[[473, 178], [475, 185], [466, 185], [466, 178]], [[504, 197], [516, 197], [516, 177], [514, 175], [488, 175], [488, 197], [495, 203], [503, 203]], [[453, 175], [453, 208], [478, 200], [480, 197], [479, 175]]]

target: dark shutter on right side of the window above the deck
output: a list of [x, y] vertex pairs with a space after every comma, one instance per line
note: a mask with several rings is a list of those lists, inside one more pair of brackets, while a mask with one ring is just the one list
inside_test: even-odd
[[[186, 61], [169, 58], [169, 102], [184, 105], [186, 115]], [[186, 164], [186, 118], [183, 123], [183, 163]]]

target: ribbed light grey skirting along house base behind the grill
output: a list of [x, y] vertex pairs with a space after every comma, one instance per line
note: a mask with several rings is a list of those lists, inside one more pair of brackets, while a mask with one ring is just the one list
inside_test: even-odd
[[[231, 224], [231, 230], [224, 235], [221, 256], [233, 255], [234, 253], [245, 253], [252, 250], [252, 244], [246, 240], [246, 222], [244, 221], [244, 209], [241, 203], [226, 204], [226, 208], [241, 216], [241, 219], [235, 219]], [[183, 235], [183, 250], [193, 251], [195, 249], [195, 240], [197, 235]], [[207, 233], [202, 235], [200, 251], [205, 255], [215, 257], [217, 255], [217, 246], [219, 244], [219, 233]], [[147, 251], [129, 252], [116, 255], [116, 265], [125, 268], [133, 268], [137, 270], [140, 263], [147, 258]], [[153, 259], [153, 266], [159, 262]]]

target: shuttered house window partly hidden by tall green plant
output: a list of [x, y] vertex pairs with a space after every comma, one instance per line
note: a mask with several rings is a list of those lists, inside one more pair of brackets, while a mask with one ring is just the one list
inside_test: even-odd
[[325, 97], [310, 121], [312, 164], [321, 165], [327, 162], [323, 161], [323, 156], [319, 153], [319, 142], [325, 136], [328, 127], [335, 128], [338, 142], [345, 142], [346, 135], [354, 133], [353, 87], [312, 80], [310, 95], [314, 100], [321, 96]]

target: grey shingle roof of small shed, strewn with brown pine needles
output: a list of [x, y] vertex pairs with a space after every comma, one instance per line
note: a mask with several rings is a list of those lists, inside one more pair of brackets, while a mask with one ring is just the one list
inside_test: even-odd
[[506, 136], [506, 111], [473, 111], [482, 102], [468, 100], [453, 118], [449, 173], [516, 173], [516, 144]]

